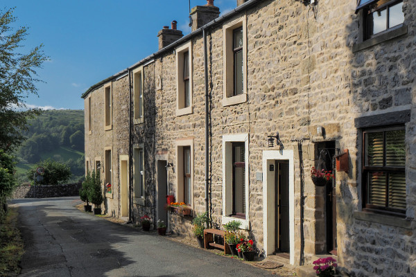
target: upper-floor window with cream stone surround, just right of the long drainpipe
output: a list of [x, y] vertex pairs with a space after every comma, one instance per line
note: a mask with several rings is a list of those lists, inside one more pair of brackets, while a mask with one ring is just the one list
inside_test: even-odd
[[223, 105], [247, 101], [247, 31], [245, 16], [223, 26]]

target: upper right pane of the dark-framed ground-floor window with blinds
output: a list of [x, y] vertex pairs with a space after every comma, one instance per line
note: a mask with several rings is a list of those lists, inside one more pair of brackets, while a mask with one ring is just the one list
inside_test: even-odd
[[385, 132], [385, 166], [404, 166], [406, 163], [405, 130]]

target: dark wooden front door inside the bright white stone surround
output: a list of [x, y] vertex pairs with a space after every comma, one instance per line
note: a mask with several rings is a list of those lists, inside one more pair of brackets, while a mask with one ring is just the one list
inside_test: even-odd
[[288, 161], [277, 161], [275, 167], [276, 251], [288, 252], [290, 250], [289, 163]]

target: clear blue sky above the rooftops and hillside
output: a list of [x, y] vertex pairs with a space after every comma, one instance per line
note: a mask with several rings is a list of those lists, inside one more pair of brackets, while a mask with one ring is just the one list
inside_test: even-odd
[[[191, 7], [205, 5], [191, 0]], [[215, 0], [221, 12], [236, 8], [236, 0]], [[2, 0], [0, 8], [15, 8], [15, 26], [28, 26], [26, 52], [44, 44], [50, 57], [37, 71], [38, 96], [28, 107], [83, 109], [80, 98], [92, 84], [157, 51], [157, 32], [177, 21], [190, 33], [188, 0]]]

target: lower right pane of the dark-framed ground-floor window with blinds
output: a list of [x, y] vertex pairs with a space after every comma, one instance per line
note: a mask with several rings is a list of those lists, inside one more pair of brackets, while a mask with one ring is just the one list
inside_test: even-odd
[[406, 176], [404, 172], [389, 174], [388, 206], [390, 208], [406, 209]]

